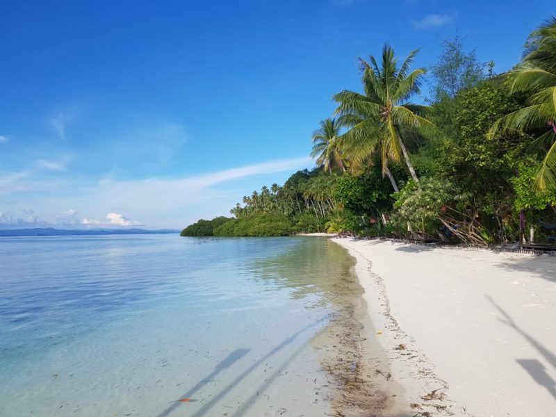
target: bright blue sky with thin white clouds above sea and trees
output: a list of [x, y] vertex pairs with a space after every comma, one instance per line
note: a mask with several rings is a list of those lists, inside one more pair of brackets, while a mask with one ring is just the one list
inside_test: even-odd
[[389, 42], [496, 72], [553, 1], [0, 3], [0, 227], [169, 227], [313, 167], [331, 97]]

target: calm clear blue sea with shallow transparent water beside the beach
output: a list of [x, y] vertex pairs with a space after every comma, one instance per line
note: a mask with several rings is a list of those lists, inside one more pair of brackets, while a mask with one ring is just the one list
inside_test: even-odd
[[0, 416], [326, 415], [353, 264], [321, 238], [0, 238]]

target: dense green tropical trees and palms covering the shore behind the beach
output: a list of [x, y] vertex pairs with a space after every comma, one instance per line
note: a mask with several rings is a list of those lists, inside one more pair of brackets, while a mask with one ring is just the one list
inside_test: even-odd
[[[350, 231], [493, 245], [556, 235], [556, 17], [526, 40], [505, 74], [441, 44], [412, 68], [389, 45], [360, 58], [361, 91], [334, 95], [311, 155], [318, 167], [263, 186], [183, 236], [281, 236]], [[427, 77], [425, 79], [425, 76]], [[429, 106], [416, 105], [430, 85]]]

